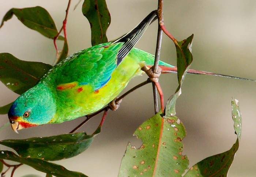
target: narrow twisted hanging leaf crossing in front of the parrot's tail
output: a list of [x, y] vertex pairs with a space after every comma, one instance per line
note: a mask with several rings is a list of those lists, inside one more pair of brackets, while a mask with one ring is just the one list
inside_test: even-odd
[[166, 103], [165, 107], [165, 115], [167, 116], [173, 116], [176, 115], [175, 105], [176, 100], [178, 96], [181, 95], [181, 85], [184, 81], [185, 75], [187, 74], [187, 71], [193, 61], [192, 56], [192, 41], [193, 41], [193, 34], [189, 36], [187, 39], [184, 39], [183, 41], [177, 41], [175, 43], [176, 46], [176, 53], [177, 53], [177, 70], [178, 70], [178, 83], [179, 86]]

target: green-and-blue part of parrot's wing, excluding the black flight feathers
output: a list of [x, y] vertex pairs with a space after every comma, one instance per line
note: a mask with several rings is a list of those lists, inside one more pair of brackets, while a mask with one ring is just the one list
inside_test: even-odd
[[56, 86], [77, 82], [79, 85], [91, 85], [94, 90], [101, 88], [110, 80], [122, 46], [123, 43], [105, 43], [67, 58], [55, 78]]

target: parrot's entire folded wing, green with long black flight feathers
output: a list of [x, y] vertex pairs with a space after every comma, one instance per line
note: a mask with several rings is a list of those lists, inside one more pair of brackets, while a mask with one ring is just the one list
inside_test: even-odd
[[155, 19], [157, 11], [148, 14], [133, 30], [113, 43], [99, 44], [70, 55], [49, 70], [41, 81], [54, 81], [61, 89], [77, 84], [91, 85], [94, 90], [101, 88]]

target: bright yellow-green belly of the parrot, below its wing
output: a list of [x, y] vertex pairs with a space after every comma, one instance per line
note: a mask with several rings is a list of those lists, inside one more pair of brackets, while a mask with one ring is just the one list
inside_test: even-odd
[[[65, 111], [56, 114], [51, 123], [73, 120], [103, 108], [123, 91], [131, 78], [142, 73], [141, 65], [138, 59], [128, 55], [114, 70], [108, 83], [97, 91], [89, 85], [72, 88], [65, 95]], [[78, 93], [79, 89], [82, 91]]]

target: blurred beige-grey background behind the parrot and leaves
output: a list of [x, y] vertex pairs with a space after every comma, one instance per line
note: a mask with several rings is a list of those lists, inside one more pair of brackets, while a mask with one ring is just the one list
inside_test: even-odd
[[[91, 46], [91, 31], [83, 16], [82, 3], [68, 16], [67, 32], [69, 54]], [[106, 0], [111, 14], [108, 39], [112, 40], [130, 31], [149, 12], [157, 8], [156, 0]], [[48, 10], [60, 29], [68, 0], [0, 0], [0, 18], [11, 9], [42, 6]], [[193, 40], [193, 69], [230, 74], [256, 79], [256, 1], [254, 0], [166, 0], [164, 18], [167, 29], [179, 41], [195, 34]], [[155, 53], [157, 23], [152, 24], [136, 47]], [[53, 64], [53, 41], [25, 27], [15, 16], [5, 22], [0, 30], [0, 52], [8, 52], [27, 61]], [[59, 42], [59, 48], [62, 43]], [[176, 51], [172, 41], [163, 36], [161, 58], [176, 65]], [[125, 91], [146, 80], [146, 76], [133, 79]], [[177, 88], [176, 74], [165, 74], [160, 79], [165, 100]], [[177, 100], [177, 116], [185, 124], [187, 136], [184, 152], [190, 166], [214, 154], [229, 150], [236, 141], [231, 118], [231, 97], [240, 101], [243, 130], [240, 149], [229, 170], [230, 177], [256, 176], [255, 107], [256, 83], [213, 76], [187, 75], [182, 85], [182, 95]], [[0, 84], [0, 105], [14, 101], [18, 95]], [[148, 84], [123, 99], [116, 112], [109, 112], [101, 134], [82, 154], [57, 161], [69, 170], [90, 177], [117, 176], [127, 143], [140, 146], [141, 141], [132, 136], [141, 123], [154, 114], [152, 86]], [[93, 118], [79, 131], [91, 133], [98, 126], [101, 115]], [[29, 138], [68, 133], [84, 118], [57, 125], [46, 125], [22, 130], [15, 134], [10, 127], [0, 132], [0, 140]], [[8, 122], [7, 115], [0, 116], [0, 126]], [[3, 149], [3, 146], [0, 147]], [[6, 149], [6, 148], [5, 148]], [[21, 166], [15, 177], [45, 174]], [[7, 174], [7, 176], [9, 176]]]

